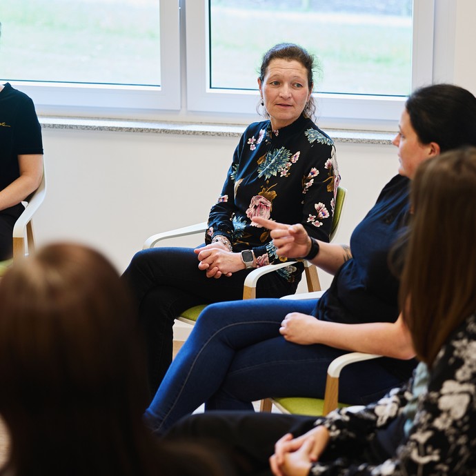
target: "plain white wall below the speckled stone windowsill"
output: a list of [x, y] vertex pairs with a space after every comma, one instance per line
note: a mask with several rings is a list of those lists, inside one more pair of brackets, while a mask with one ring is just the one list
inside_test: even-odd
[[[150, 235], [206, 220], [235, 138], [43, 129], [48, 194], [39, 243], [68, 239], [103, 251], [119, 271]], [[397, 170], [391, 146], [337, 143], [350, 232]], [[201, 237], [188, 238], [198, 244]]]

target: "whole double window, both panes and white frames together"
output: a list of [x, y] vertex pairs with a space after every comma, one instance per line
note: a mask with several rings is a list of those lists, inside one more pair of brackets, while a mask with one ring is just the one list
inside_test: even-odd
[[246, 122], [261, 55], [292, 41], [321, 60], [320, 124], [393, 128], [432, 81], [434, 1], [16, 0], [0, 71], [43, 114]]

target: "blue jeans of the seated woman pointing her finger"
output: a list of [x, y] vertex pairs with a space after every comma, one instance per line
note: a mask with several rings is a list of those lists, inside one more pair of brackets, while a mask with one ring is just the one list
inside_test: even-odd
[[[252, 410], [252, 401], [266, 397], [323, 397], [328, 364], [345, 351], [293, 344], [279, 334], [286, 314], [310, 314], [315, 304], [255, 299], [208, 306], [146, 410], [150, 428], [163, 433], [204, 402], [206, 410]], [[394, 375], [382, 360], [344, 369], [339, 399], [368, 403], [408, 379], [410, 370]]]

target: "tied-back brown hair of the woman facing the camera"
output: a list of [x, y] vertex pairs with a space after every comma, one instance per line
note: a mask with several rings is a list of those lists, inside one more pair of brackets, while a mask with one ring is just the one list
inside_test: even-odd
[[[315, 57], [312, 54], [308, 53], [307, 50], [302, 48], [302, 46], [296, 45], [295, 43], [279, 43], [273, 46], [263, 55], [261, 67], [259, 68], [259, 79], [261, 79], [261, 82], [264, 82], [268, 66], [273, 59], [286, 59], [288, 61], [295, 60], [301, 63], [308, 72], [308, 88], [309, 91], [312, 92], [314, 84], [313, 75], [316, 68]], [[310, 95], [303, 113], [306, 117], [313, 117], [315, 111], [316, 104], [313, 95]], [[265, 112], [264, 115], [267, 115], [267, 112]]]

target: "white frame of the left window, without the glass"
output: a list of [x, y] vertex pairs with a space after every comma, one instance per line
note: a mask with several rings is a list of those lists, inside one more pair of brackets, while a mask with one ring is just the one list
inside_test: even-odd
[[160, 1], [160, 86], [10, 82], [26, 92], [33, 99], [37, 110], [43, 114], [89, 113], [96, 116], [113, 111], [129, 111], [130, 115], [131, 110], [179, 110], [181, 108], [179, 0], [158, 1]]

